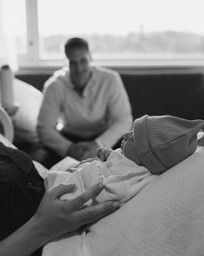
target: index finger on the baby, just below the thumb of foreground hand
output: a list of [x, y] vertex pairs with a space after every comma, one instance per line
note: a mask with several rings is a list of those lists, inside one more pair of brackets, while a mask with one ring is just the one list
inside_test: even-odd
[[93, 185], [82, 195], [76, 197], [76, 199], [69, 200], [69, 205], [73, 209], [79, 209], [83, 204], [85, 204], [89, 199], [95, 198], [103, 189], [102, 183]]

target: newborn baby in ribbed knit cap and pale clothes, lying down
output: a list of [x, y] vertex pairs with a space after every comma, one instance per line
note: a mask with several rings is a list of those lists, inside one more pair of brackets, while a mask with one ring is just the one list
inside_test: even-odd
[[82, 161], [71, 172], [49, 172], [45, 185], [76, 183], [76, 192], [62, 197], [73, 199], [102, 182], [104, 189], [93, 202], [115, 199], [124, 204], [156, 175], [188, 158], [203, 126], [203, 120], [145, 115], [135, 119], [133, 130], [124, 134], [121, 149], [101, 148], [99, 158]]

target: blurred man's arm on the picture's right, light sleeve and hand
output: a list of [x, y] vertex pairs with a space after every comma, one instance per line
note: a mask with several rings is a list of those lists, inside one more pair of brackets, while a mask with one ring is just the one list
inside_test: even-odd
[[77, 144], [85, 149], [81, 160], [95, 157], [99, 147], [112, 147], [122, 138], [125, 132], [132, 128], [131, 106], [121, 77], [115, 72], [107, 79], [109, 79], [109, 81], [106, 81], [109, 85], [106, 90], [109, 95], [107, 104], [109, 127], [95, 140], [83, 141]]

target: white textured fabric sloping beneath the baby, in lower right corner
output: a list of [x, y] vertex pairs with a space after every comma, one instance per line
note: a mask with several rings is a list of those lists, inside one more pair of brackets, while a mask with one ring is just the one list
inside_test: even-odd
[[49, 243], [43, 256], [204, 255], [204, 149], [156, 177], [88, 233]]

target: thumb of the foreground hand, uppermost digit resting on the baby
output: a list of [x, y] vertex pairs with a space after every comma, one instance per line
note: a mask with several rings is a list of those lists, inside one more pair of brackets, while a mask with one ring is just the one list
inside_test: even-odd
[[69, 183], [69, 184], [60, 184], [56, 185], [55, 187], [49, 189], [49, 194], [54, 199], [61, 198], [66, 193], [73, 193], [76, 192], [77, 186], [75, 183]]

